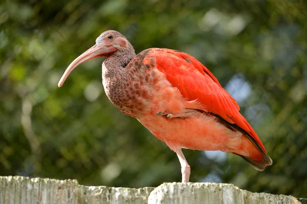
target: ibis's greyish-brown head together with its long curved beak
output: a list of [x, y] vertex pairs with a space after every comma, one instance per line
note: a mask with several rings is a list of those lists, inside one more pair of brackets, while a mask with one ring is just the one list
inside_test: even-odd
[[58, 83], [58, 86], [61, 87], [72, 70], [87, 60], [91, 60], [97, 57], [108, 58], [114, 55], [123, 54], [134, 54], [134, 48], [127, 40], [127, 38], [125, 38], [125, 36], [117, 31], [105, 31], [96, 39], [96, 44], [94, 46], [92, 46], [90, 49], [87, 49], [67, 67]]

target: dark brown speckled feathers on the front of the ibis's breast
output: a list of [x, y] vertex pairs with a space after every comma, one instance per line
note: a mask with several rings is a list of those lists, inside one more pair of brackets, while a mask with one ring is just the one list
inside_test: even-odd
[[124, 114], [138, 117], [146, 111], [150, 92], [146, 83], [149, 79], [145, 76], [145, 67], [137, 57], [129, 60], [125, 67], [114, 63], [118, 62], [116, 58], [107, 58], [102, 64], [102, 84], [105, 93]]

